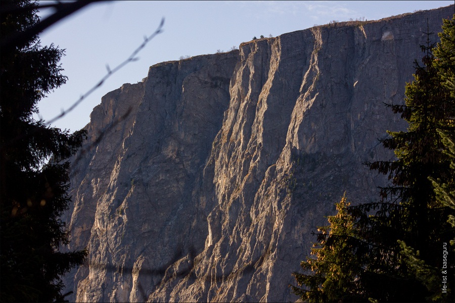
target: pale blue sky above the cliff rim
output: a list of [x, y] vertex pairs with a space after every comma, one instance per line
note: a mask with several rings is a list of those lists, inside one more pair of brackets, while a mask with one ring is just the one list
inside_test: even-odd
[[[42, 1], [41, 3], [44, 3]], [[453, 1], [127, 1], [90, 5], [40, 34], [41, 45], [66, 49], [62, 59], [66, 84], [38, 104], [40, 116], [50, 120], [69, 108], [158, 27], [164, 31], [131, 62], [109, 78], [74, 111], [53, 126], [78, 130], [107, 92], [147, 76], [149, 67], [180, 56], [229, 51], [253, 36], [278, 36], [295, 30], [364, 17], [378, 20], [429, 10]], [[45, 11], [42, 12], [46, 14]], [[410, 60], [413, 61], [414, 58]]]

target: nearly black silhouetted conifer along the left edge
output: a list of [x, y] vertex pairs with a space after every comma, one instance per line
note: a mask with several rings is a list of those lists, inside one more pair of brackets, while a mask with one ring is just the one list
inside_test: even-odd
[[[37, 24], [36, 5], [2, 1], [2, 37]], [[60, 220], [70, 201], [64, 161], [80, 147], [85, 132], [70, 134], [32, 117], [39, 100], [66, 82], [62, 56], [53, 45], [41, 46], [38, 36], [1, 54], [1, 301], [61, 300], [60, 275], [86, 256], [86, 251], [59, 251], [68, 241]]]

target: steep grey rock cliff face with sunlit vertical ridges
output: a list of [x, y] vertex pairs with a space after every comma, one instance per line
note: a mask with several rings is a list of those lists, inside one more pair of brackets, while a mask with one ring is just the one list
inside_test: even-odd
[[[453, 6], [263, 38], [165, 62], [106, 94], [72, 160], [65, 276], [77, 301], [294, 301], [291, 273], [346, 191], [379, 198], [362, 165], [406, 127], [384, 103]], [[436, 34], [432, 36], [438, 39]]]

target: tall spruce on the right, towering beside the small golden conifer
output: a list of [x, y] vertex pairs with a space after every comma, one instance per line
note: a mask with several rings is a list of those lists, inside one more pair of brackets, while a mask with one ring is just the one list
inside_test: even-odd
[[[397, 160], [370, 164], [388, 175], [391, 184], [381, 188], [380, 202], [350, 209], [360, 238], [373, 245], [373, 258], [362, 261], [366, 271], [359, 283], [366, 297], [379, 301], [450, 300], [452, 291], [435, 296], [430, 278], [442, 268], [442, 244], [454, 232], [447, 223], [452, 210], [437, 198], [431, 181], [453, 184], [451, 159], [440, 135], [455, 133], [453, 91], [445, 85], [455, 65], [450, 59], [453, 19], [444, 20], [436, 48], [430, 35], [421, 46], [422, 64], [415, 62], [415, 80], [405, 86], [405, 105], [390, 105], [408, 122], [407, 131], [388, 131], [390, 137], [382, 141]], [[367, 215], [372, 212], [374, 216]], [[449, 255], [453, 252], [452, 247]], [[389, 261], [380, 262], [381, 258]], [[450, 267], [453, 271], [453, 264]]]

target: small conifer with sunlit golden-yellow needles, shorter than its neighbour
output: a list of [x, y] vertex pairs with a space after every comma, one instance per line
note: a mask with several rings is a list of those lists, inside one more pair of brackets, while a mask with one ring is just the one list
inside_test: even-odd
[[337, 214], [328, 216], [329, 226], [318, 228], [317, 241], [311, 255], [300, 266], [307, 274], [294, 272], [299, 288], [291, 285], [293, 292], [308, 302], [355, 301], [361, 299], [355, 278], [360, 270], [354, 258], [358, 239], [354, 219], [348, 214], [346, 194], [335, 204]]

